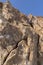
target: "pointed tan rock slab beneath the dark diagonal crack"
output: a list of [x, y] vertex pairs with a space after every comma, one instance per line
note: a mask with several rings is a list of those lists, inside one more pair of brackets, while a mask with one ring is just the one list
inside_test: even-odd
[[18, 48], [13, 50], [8, 56], [4, 65], [26, 65], [28, 61], [28, 46], [26, 45], [26, 41], [22, 40], [18, 44]]

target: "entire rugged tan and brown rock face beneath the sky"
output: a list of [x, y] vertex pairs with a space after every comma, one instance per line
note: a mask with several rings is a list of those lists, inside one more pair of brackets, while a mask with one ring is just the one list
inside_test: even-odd
[[43, 17], [0, 3], [0, 65], [43, 65]]

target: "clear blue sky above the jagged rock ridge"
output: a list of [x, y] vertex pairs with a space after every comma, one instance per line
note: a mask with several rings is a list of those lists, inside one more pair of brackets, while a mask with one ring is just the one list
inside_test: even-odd
[[[0, 0], [6, 1], [6, 0]], [[43, 16], [43, 0], [9, 0], [22, 13]]]

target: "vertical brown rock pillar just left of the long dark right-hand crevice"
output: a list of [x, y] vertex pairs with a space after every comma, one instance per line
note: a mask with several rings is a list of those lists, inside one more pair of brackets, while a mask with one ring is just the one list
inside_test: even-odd
[[29, 65], [37, 65], [37, 43], [38, 43], [38, 35], [33, 35], [33, 40], [30, 45], [30, 57], [29, 57]]

